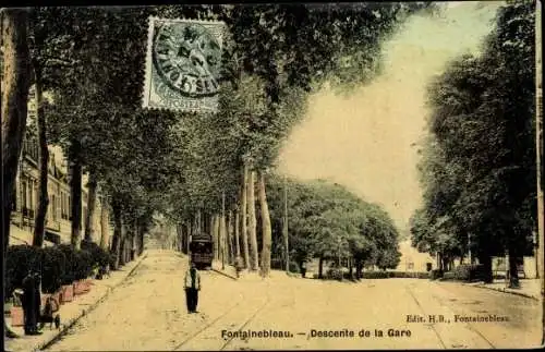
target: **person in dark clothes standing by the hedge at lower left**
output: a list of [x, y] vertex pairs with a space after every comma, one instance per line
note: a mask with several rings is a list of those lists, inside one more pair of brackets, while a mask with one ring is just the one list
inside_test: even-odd
[[23, 279], [23, 312], [25, 320], [25, 335], [40, 335], [38, 331], [38, 317], [40, 306], [39, 275], [28, 272]]

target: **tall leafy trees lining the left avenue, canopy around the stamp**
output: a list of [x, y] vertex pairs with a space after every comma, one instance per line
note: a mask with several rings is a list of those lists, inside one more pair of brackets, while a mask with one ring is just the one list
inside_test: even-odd
[[[4, 254], [34, 84], [40, 170], [46, 172], [48, 144], [60, 145], [69, 160], [74, 247], [82, 240], [82, 173], [88, 172], [88, 209], [94, 211], [97, 197], [110, 207], [118, 264], [133, 243], [142, 246], [159, 211], [185, 230], [222, 229], [217, 243], [228, 242], [225, 233], [239, 228], [233, 226], [239, 218], [239, 251], [247, 266], [266, 276], [271, 247], [266, 174], [303, 116], [308, 92], [326, 81], [339, 87], [368, 82], [379, 70], [382, 41], [408, 15], [431, 9], [423, 2], [3, 9]], [[150, 15], [227, 24], [218, 116], [141, 108]], [[50, 105], [44, 102], [46, 90]], [[43, 244], [48, 204], [47, 178], [40, 181], [35, 245]], [[263, 219], [261, 263], [254, 182]], [[92, 221], [86, 222], [90, 236]], [[107, 235], [102, 231], [105, 246]]]

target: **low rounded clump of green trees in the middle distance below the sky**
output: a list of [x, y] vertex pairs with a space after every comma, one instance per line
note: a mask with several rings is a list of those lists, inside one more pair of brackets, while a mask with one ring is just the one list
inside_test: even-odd
[[[339, 184], [317, 180], [300, 182], [274, 175], [269, 180], [268, 203], [272, 222], [272, 255], [284, 258], [282, 239], [284, 186], [290, 224], [290, 258], [300, 264], [319, 258], [318, 277], [324, 259], [353, 258], [356, 278], [364, 266], [380, 269], [399, 264], [399, 233], [393, 221], [379, 206], [367, 203]], [[352, 263], [352, 262], [350, 262]], [[350, 274], [353, 266], [350, 265]]]

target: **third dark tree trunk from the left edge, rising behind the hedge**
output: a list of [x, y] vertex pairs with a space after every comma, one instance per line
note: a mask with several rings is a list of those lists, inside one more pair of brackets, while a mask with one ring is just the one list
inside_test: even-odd
[[72, 141], [70, 148], [70, 214], [72, 217], [70, 242], [75, 250], [80, 250], [82, 244], [82, 163], [78, 158], [81, 153], [80, 143]]

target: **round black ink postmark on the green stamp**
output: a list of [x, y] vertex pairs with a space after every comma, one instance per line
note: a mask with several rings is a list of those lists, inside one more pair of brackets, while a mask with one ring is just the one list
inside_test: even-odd
[[158, 77], [171, 89], [191, 98], [218, 93], [221, 47], [217, 38], [197, 23], [164, 23], [153, 47]]

